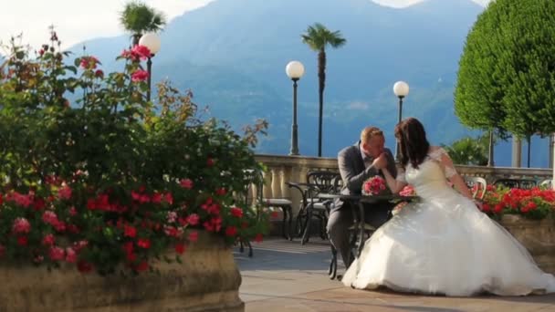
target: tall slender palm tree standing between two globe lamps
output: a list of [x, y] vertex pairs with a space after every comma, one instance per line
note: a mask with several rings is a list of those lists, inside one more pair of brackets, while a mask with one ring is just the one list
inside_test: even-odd
[[318, 157], [322, 156], [322, 112], [324, 108], [324, 88], [326, 87], [326, 47], [341, 47], [347, 39], [341, 36], [340, 31], [330, 31], [326, 26], [315, 23], [307, 28], [301, 35], [302, 42], [310, 49], [318, 52], [318, 79], [319, 79], [319, 125], [318, 125]]

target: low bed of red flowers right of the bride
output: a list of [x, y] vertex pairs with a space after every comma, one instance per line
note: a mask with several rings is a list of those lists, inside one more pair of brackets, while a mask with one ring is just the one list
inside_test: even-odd
[[494, 218], [503, 213], [521, 214], [529, 219], [543, 219], [555, 213], [555, 191], [508, 189], [504, 186], [487, 185], [482, 211]]

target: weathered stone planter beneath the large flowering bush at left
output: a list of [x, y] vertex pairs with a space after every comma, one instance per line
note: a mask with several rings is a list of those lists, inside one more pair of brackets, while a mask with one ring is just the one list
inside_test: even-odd
[[[169, 255], [172, 257], [173, 255]], [[82, 275], [75, 266], [0, 264], [0, 311], [244, 311], [241, 276], [231, 249], [199, 233], [183, 264], [156, 265], [161, 274]]]

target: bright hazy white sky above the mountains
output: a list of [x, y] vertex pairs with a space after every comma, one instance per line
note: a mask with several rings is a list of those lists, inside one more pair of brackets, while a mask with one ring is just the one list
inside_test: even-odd
[[[48, 26], [56, 26], [63, 47], [99, 36], [123, 34], [118, 15], [127, 0], [0, 0], [0, 42], [23, 33], [23, 43], [38, 48], [47, 42]], [[213, 0], [146, 0], [168, 20]], [[300, 0], [299, 0], [300, 1]], [[369, 0], [403, 7], [425, 0]], [[490, 0], [472, 0], [486, 5]], [[0, 53], [5, 52], [0, 49]]]

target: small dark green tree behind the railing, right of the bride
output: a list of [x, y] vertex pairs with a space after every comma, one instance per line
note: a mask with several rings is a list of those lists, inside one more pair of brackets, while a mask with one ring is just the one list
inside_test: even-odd
[[456, 164], [485, 166], [488, 143], [489, 136], [482, 135], [477, 138], [465, 137], [450, 146], [442, 146]]

